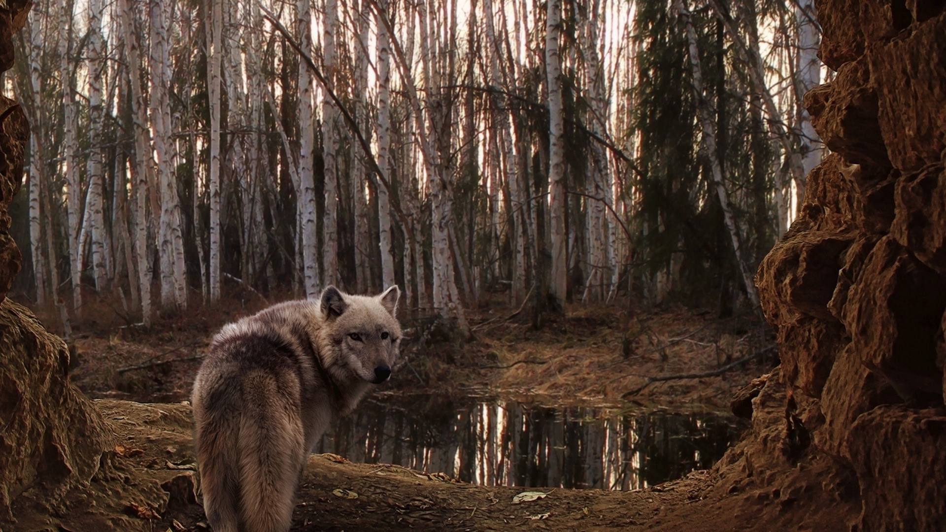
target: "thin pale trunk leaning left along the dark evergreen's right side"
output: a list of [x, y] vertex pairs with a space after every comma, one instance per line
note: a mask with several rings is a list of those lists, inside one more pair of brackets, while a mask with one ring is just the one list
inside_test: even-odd
[[696, 98], [696, 106], [700, 115], [700, 124], [703, 129], [703, 146], [707, 158], [710, 159], [710, 169], [712, 171], [713, 183], [716, 186], [716, 194], [719, 197], [720, 206], [723, 209], [723, 220], [726, 222], [726, 228], [729, 232], [729, 239], [732, 241], [732, 250], [735, 253], [736, 264], [743, 275], [745, 284], [745, 293], [752, 302], [753, 308], [759, 307], [759, 295], [756, 293], [756, 285], [752, 281], [752, 270], [743, 260], [743, 255], [739, 244], [739, 232], [736, 228], [736, 222], [732, 216], [732, 209], [729, 208], [728, 193], [726, 189], [723, 170], [720, 168], [719, 158], [716, 156], [716, 132], [713, 127], [710, 105], [703, 93], [703, 72], [700, 66], [699, 50], [696, 47], [696, 32], [690, 19], [690, 12], [687, 11], [683, 0], [674, 0], [674, 10], [676, 15], [683, 21], [687, 31], [687, 40], [690, 43], [690, 64], [692, 66], [692, 84], [693, 94]]

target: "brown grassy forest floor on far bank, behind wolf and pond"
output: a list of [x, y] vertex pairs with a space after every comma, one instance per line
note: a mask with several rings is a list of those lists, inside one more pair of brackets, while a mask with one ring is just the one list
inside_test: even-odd
[[[72, 380], [95, 399], [188, 399], [216, 330], [254, 310], [195, 311], [147, 332], [108, 323], [79, 330]], [[777, 364], [771, 331], [755, 316], [576, 305], [544, 315], [536, 330], [529, 316], [514, 314], [504, 307], [469, 312], [466, 340], [429, 320], [403, 320], [401, 361], [383, 386], [402, 395], [502, 396], [545, 406], [727, 412], [735, 390]], [[752, 360], [738, 364], [746, 357]], [[718, 376], [649, 383], [732, 362]]]

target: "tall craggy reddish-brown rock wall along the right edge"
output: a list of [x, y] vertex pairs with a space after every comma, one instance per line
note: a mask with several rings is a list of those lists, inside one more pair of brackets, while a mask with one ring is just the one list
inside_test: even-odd
[[784, 417], [766, 424], [754, 415], [754, 443], [740, 456], [776, 456], [774, 429], [765, 427], [781, 427], [785, 447], [795, 426], [809, 434], [802, 454], [856, 474], [861, 512], [852, 529], [939, 530], [946, 2], [816, 4], [820, 56], [837, 76], [806, 106], [832, 154], [808, 176], [797, 221], [757, 275], [782, 362], [759, 398], [774, 387], [787, 399]]

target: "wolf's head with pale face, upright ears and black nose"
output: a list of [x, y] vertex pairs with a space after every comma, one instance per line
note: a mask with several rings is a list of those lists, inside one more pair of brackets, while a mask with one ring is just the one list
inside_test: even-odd
[[396, 286], [377, 296], [342, 293], [334, 286], [323, 291], [321, 333], [334, 351], [333, 365], [376, 384], [391, 377], [401, 340], [395, 317], [400, 296]]

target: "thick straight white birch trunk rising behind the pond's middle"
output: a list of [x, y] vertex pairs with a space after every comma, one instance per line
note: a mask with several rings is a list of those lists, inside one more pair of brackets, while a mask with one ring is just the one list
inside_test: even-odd
[[552, 278], [550, 292], [564, 309], [568, 290], [568, 235], [565, 231], [565, 136], [562, 122], [561, 66], [558, 34], [561, 0], [548, 0], [545, 34], [545, 68], [549, 89], [549, 215], [552, 237]]

